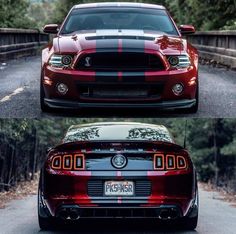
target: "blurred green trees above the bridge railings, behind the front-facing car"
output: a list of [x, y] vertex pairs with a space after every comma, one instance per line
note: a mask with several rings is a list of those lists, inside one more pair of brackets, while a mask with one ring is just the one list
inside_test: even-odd
[[[98, 2], [105, 2], [99, 0]], [[113, 0], [114, 1], [114, 0]], [[129, 1], [129, 0], [127, 0]], [[197, 30], [236, 29], [236, 0], [130, 0], [167, 7], [180, 24], [193, 24]], [[0, 0], [0, 27], [39, 28], [61, 24], [75, 4], [93, 0]], [[116, 2], [116, 1], [114, 1]]]

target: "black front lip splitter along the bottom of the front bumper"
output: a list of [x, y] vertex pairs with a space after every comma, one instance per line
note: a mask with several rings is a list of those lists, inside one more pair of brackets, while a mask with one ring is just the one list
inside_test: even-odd
[[196, 104], [196, 99], [177, 101], [162, 101], [159, 103], [92, 103], [76, 102], [63, 99], [44, 99], [50, 108], [79, 109], [79, 108], [156, 108], [160, 110], [188, 109]]

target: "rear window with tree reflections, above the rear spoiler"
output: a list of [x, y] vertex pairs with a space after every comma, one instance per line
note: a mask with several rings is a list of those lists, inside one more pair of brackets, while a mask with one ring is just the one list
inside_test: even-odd
[[173, 143], [169, 131], [163, 126], [144, 125], [93, 125], [84, 127], [71, 127], [63, 142], [75, 141], [163, 141]]

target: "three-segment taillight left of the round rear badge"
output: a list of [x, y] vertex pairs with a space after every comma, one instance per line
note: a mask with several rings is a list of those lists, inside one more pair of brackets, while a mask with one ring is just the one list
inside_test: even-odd
[[54, 170], [78, 171], [85, 169], [83, 154], [65, 154], [52, 157], [51, 168]]

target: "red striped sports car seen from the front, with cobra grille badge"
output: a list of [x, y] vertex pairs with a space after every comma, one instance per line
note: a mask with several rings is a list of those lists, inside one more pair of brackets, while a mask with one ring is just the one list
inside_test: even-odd
[[198, 52], [163, 6], [74, 6], [42, 52], [41, 108], [198, 109]]

